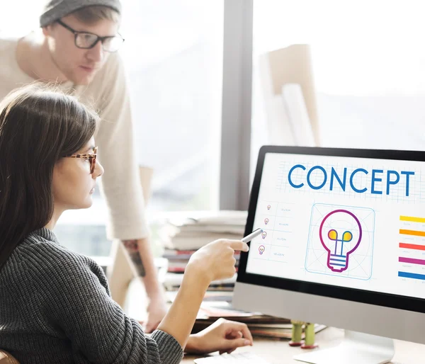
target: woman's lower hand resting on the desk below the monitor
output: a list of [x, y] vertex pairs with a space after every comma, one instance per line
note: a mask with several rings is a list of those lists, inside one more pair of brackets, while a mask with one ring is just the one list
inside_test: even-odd
[[186, 353], [232, 353], [241, 346], [252, 345], [252, 335], [248, 326], [240, 322], [217, 319], [203, 331], [189, 336]]

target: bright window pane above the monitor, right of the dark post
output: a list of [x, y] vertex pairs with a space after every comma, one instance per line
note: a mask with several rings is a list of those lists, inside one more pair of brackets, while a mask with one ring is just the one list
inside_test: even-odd
[[421, 13], [410, 1], [254, 1], [253, 159], [268, 142], [259, 57], [295, 44], [311, 47], [322, 147], [423, 149]]

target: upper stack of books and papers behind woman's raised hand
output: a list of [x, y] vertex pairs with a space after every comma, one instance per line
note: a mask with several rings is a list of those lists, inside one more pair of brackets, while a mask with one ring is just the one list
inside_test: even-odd
[[[192, 254], [217, 239], [242, 239], [246, 211], [211, 211], [176, 215], [169, 218], [161, 232], [164, 258], [168, 272], [164, 279], [167, 290], [178, 290], [186, 265]], [[235, 254], [239, 263], [239, 252]], [[232, 291], [236, 275], [227, 280], [211, 283], [209, 290]]]

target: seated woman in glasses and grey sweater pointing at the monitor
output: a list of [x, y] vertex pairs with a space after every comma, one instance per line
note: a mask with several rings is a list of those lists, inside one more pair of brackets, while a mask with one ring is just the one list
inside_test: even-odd
[[[251, 345], [225, 320], [191, 335], [212, 280], [234, 274], [242, 241], [217, 240], [191, 257], [174, 304], [152, 336], [111, 299], [101, 268], [52, 229], [64, 210], [91, 206], [98, 116], [40, 85], [0, 103], [0, 346], [21, 363], [179, 363], [188, 352]], [[119, 150], [114, 151], [120, 153]], [[125, 208], [125, 207], [123, 207]]]

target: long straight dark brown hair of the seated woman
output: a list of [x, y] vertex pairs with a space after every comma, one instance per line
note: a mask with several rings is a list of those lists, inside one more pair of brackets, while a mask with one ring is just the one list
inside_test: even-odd
[[57, 161], [94, 135], [98, 115], [39, 83], [0, 102], [0, 269], [13, 249], [52, 218]]

